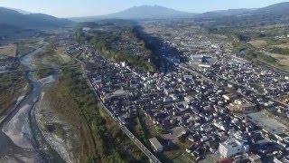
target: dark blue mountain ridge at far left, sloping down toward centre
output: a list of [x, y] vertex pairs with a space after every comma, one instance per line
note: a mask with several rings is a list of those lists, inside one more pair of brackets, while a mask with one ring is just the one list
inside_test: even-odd
[[0, 7], [0, 24], [20, 28], [51, 28], [65, 26], [72, 22], [48, 14], [21, 14], [18, 11]]

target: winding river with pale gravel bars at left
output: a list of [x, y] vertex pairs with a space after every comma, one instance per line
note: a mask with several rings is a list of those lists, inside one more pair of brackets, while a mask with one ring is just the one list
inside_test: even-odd
[[[42, 44], [41, 48], [20, 58], [20, 62], [27, 67], [26, 81], [31, 89], [23, 101], [0, 122], [0, 162], [64, 162], [43, 139], [34, 115], [34, 105], [45, 88], [42, 82], [33, 77], [33, 69], [36, 68], [33, 55], [42, 52], [47, 45], [45, 42]], [[55, 70], [52, 77], [58, 79], [58, 75]]]

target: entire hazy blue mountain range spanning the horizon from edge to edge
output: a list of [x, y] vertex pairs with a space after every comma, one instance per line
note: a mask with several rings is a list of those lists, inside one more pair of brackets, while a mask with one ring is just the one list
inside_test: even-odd
[[32, 14], [20, 9], [0, 7], [0, 25], [20, 29], [55, 28], [74, 24], [73, 22], [88, 22], [102, 19], [147, 20], [168, 18], [191, 18], [196, 21], [212, 20], [219, 22], [219, 24], [243, 24], [243, 22], [247, 24], [289, 23], [289, 2], [256, 9], [229, 9], [202, 14], [177, 11], [160, 5], [141, 5], [114, 14], [69, 19], [57, 18], [48, 14]]

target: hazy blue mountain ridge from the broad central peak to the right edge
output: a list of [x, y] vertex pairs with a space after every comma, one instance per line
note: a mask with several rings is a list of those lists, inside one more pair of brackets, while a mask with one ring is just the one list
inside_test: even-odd
[[114, 14], [106, 15], [96, 15], [96, 16], [87, 16], [87, 17], [75, 17], [70, 18], [70, 20], [77, 22], [88, 22], [95, 21], [99, 19], [170, 19], [170, 18], [228, 18], [235, 17], [239, 15], [260, 15], [264, 14], [265, 16], [270, 16], [268, 13], [274, 13], [279, 15], [279, 17], [285, 17], [286, 14], [289, 14], [289, 3], [279, 3], [275, 5], [269, 5], [263, 8], [240, 8], [240, 9], [228, 9], [228, 10], [219, 10], [211, 11], [202, 14], [188, 13], [177, 11], [174, 9], [166, 8], [160, 5], [141, 5], [128, 8], [124, 11], [117, 12]]

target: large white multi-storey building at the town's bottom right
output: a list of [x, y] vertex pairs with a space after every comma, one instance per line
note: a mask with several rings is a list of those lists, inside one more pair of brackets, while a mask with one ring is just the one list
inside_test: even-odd
[[247, 153], [249, 147], [237, 139], [227, 139], [219, 143], [219, 154], [222, 158], [230, 158], [241, 153]]

